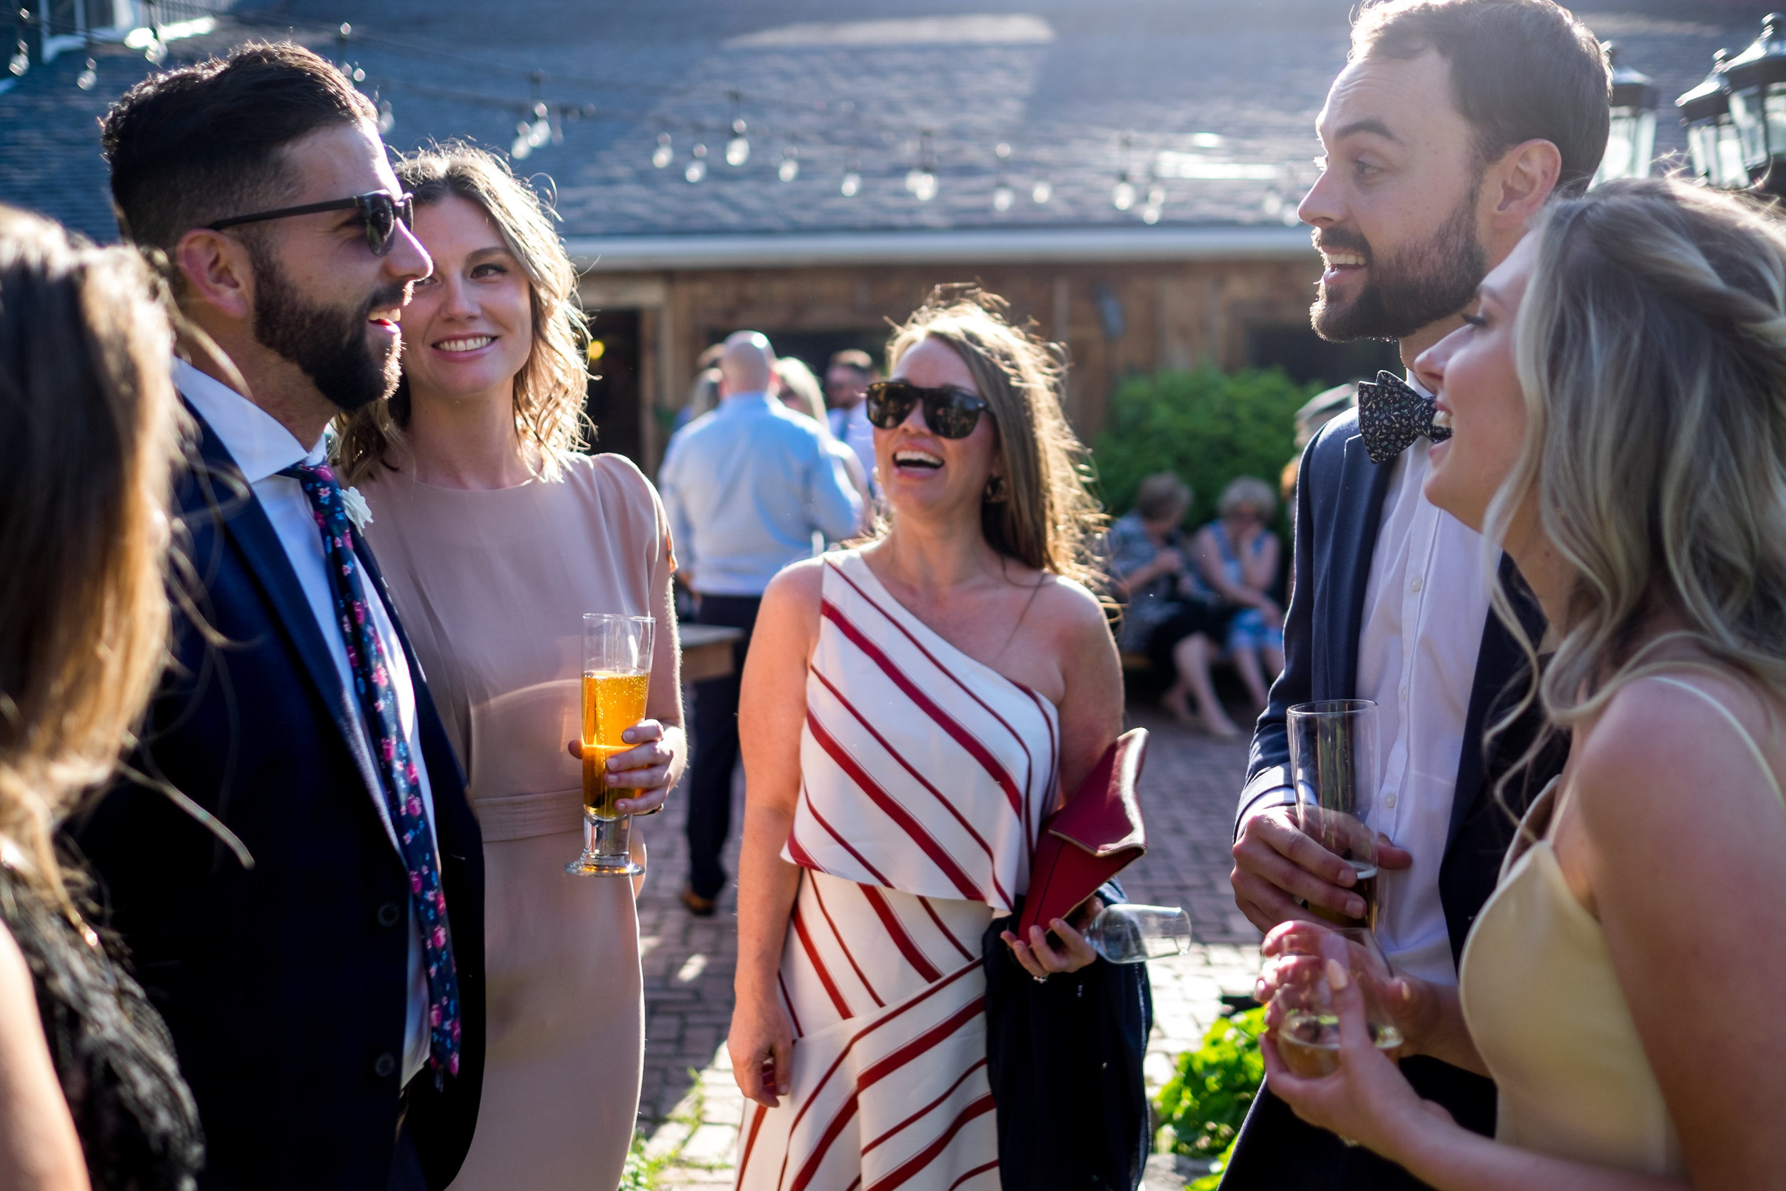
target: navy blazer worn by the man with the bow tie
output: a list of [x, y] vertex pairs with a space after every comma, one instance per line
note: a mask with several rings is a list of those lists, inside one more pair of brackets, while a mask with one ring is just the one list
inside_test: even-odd
[[[1390, 493], [1393, 464], [1373, 464], [1357, 432], [1357, 412], [1334, 418], [1309, 443], [1297, 480], [1295, 587], [1284, 612], [1284, 673], [1272, 684], [1272, 698], [1254, 729], [1247, 787], [1241, 791], [1234, 830], [1247, 809], [1275, 789], [1289, 786], [1289, 737], [1284, 712], [1295, 704], [1327, 698], [1357, 698], [1357, 639], [1365, 625], [1365, 587], [1382, 525], [1382, 502]], [[1545, 620], [1513, 561], [1502, 555], [1497, 580], [1532, 641], [1543, 637]], [[1452, 795], [1450, 830], [1440, 866], [1440, 902], [1450, 934], [1452, 961], [1461, 962], [1470, 923], [1488, 900], [1500, 871], [1500, 857], [1513, 839], [1515, 820], [1523, 811], [1527, 789], [1538, 789], [1561, 770], [1559, 757], [1532, 766], [1518, 789], [1507, 791], [1507, 807], [1493, 796], [1491, 773], [1523, 755], [1538, 716], [1520, 723], [1484, 746], [1482, 732], [1511, 700], [1529, 686], [1525, 652], [1490, 609], [1465, 716], [1463, 752]]]

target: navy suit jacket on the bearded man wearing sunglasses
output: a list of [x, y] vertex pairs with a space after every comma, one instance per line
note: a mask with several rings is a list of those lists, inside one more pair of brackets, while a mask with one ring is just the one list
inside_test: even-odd
[[[196, 416], [196, 414], [195, 414]], [[136, 975], [168, 1020], [205, 1127], [205, 1189], [384, 1191], [402, 1111], [409, 877], [370, 750], [284, 546], [198, 418], [180, 477], [191, 607], [129, 761], [70, 827]], [[364, 541], [355, 554], [386, 593]], [[484, 848], [421, 668], [421, 755], [459, 968], [463, 1057], [418, 1079], [407, 1125], [430, 1187], [472, 1143], [484, 1073]], [[159, 784], [229, 827], [245, 868]]]

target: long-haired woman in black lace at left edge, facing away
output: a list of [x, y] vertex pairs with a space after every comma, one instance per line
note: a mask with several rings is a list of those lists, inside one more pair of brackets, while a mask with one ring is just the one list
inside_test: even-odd
[[52, 843], [166, 657], [155, 291], [134, 252], [0, 207], [0, 1187], [184, 1189], [204, 1161], [173, 1037]]

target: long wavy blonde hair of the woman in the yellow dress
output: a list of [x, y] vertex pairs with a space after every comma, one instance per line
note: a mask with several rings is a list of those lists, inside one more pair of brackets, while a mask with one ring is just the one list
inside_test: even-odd
[[[1573, 580], [1534, 691], [1570, 727], [1656, 668], [1672, 612], [1706, 659], [1786, 696], [1786, 229], [1668, 179], [1556, 202], [1515, 323], [1525, 443], [1488, 511], [1536, 496]], [[1495, 609], [1527, 648], [1504, 591]], [[1543, 746], [1540, 739], [1527, 757]]]

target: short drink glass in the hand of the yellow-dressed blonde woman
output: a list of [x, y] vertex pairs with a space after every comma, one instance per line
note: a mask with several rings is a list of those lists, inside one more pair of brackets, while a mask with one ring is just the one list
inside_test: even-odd
[[1402, 1027], [1382, 1005], [1381, 989], [1395, 979], [1377, 936], [1363, 927], [1318, 930], [1307, 952], [1273, 961], [1277, 991], [1266, 1018], [1277, 1054], [1297, 1075], [1331, 1075], [1340, 1070], [1340, 1014], [1332, 1005], [1327, 961], [1345, 966], [1365, 998], [1365, 1027], [1377, 1050], [1402, 1045]]

